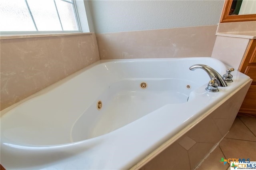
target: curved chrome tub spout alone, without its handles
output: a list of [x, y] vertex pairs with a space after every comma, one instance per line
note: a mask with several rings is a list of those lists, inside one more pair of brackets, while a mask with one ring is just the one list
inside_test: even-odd
[[222, 76], [216, 70], [214, 70], [212, 67], [209, 67], [208, 65], [195, 64], [195, 65], [192, 65], [191, 67], [189, 67], [189, 69], [192, 71], [194, 71], [195, 69], [203, 69], [209, 75], [211, 80], [214, 78], [217, 79], [217, 83], [220, 87], [228, 86], [227, 83], [222, 78]]

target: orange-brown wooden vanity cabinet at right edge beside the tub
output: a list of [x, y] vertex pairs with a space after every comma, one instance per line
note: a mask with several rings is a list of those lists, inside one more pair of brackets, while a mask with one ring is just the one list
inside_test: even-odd
[[239, 113], [256, 116], [256, 40], [251, 40], [239, 71], [252, 79]]

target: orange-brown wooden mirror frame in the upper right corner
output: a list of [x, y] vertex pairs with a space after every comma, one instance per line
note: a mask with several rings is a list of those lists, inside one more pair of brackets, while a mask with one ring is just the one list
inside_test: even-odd
[[233, 0], [225, 0], [220, 22], [256, 21], [256, 14], [228, 15]]

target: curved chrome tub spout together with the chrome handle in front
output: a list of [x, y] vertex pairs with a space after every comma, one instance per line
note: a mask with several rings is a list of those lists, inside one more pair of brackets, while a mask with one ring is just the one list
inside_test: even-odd
[[195, 64], [189, 67], [189, 69], [192, 71], [194, 71], [195, 69], [203, 69], [204, 71], [206, 71], [206, 73], [209, 75], [211, 79], [208, 83], [208, 86], [206, 87], [207, 91], [218, 92], [219, 91], [218, 86], [220, 87], [228, 86], [227, 83], [222, 78], [222, 76], [216, 70], [214, 70], [212, 67], [209, 67], [208, 65]]

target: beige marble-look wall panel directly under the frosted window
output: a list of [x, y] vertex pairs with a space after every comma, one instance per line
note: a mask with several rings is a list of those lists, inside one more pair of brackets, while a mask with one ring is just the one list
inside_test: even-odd
[[1, 110], [100, 59], [95, 34], [0, 41]]

